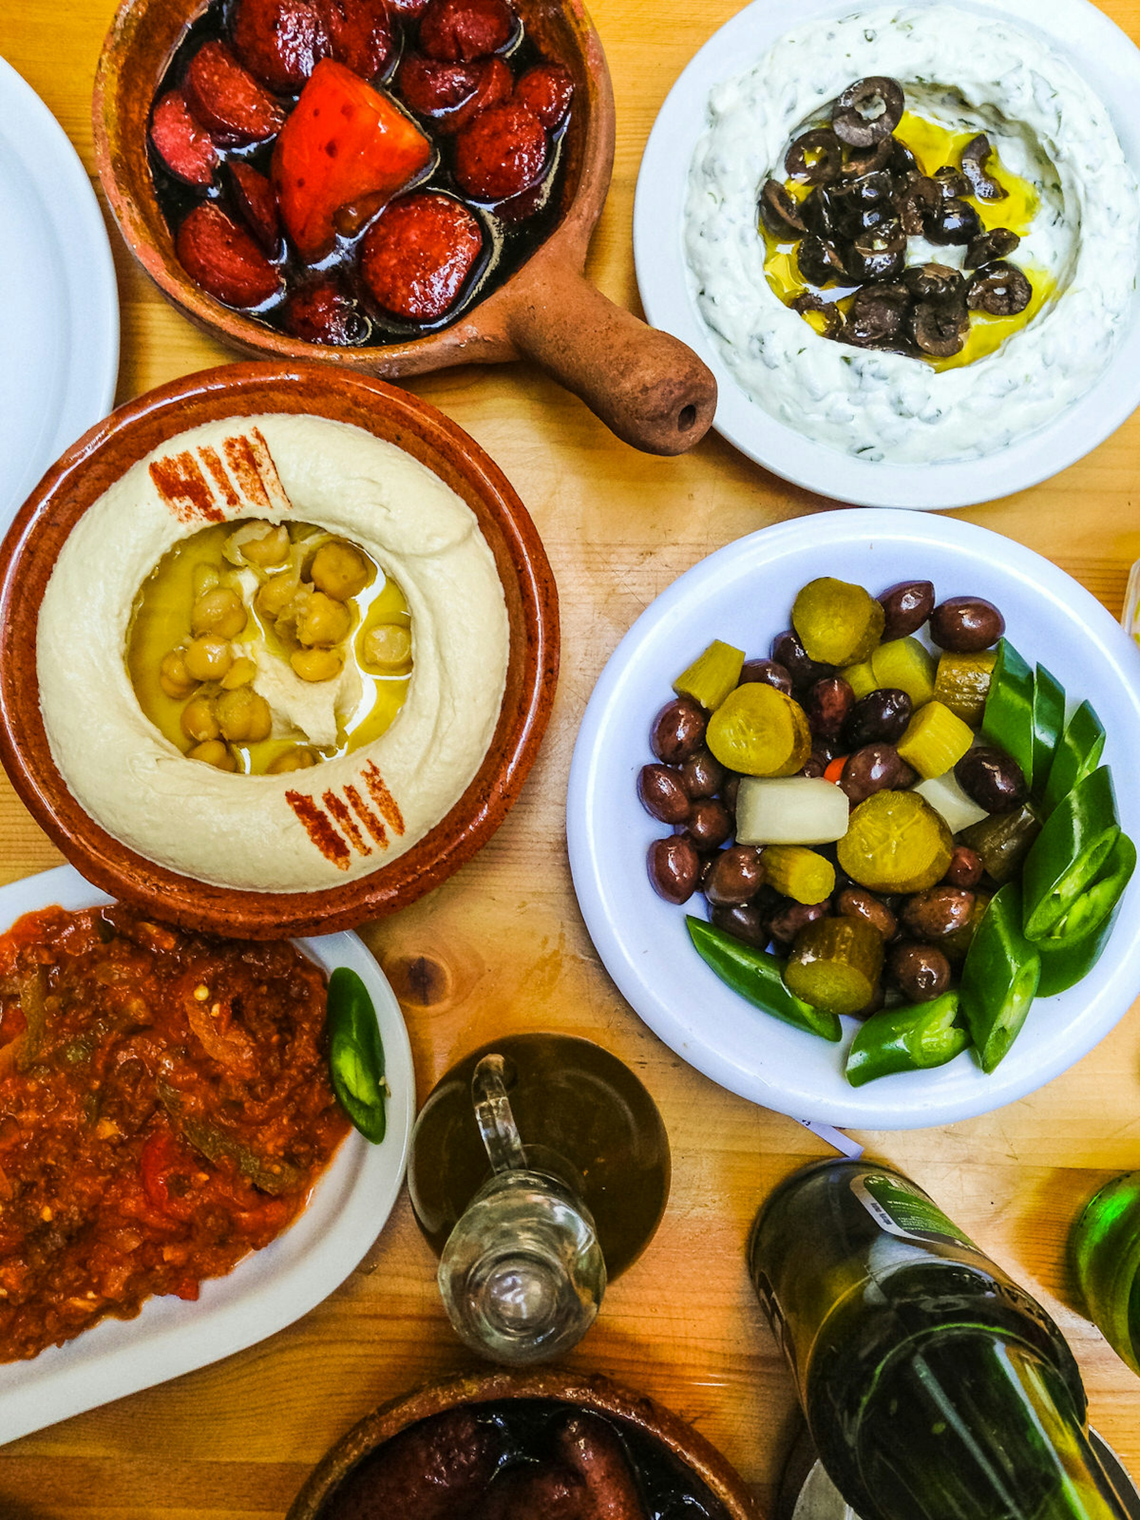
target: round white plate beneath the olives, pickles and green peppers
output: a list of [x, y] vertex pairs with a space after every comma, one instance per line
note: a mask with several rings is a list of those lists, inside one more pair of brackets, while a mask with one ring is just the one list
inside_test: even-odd
[[704, 900], [664, 903], [646, 877], [646, 850], [667, 828], [637, 801], [637, 772], [652, 754], [649, 728], [672, 682], [713, 640], [768, 654], [792, 599], [833, 575], [879, 593], [929, 579], [939, 599], [985, 596], [1008, 635], [1087, 698], [1108, 731], [1117, 806], [1140, 839], [1140, 654], [1094, 597], [1040, 555], [956, 518], [897, 512], [833, 514], [781, 523], [728, 544], [675, 581], [638, 617], [602, 672], [570, 768], [567, 841], [590, 936], [619, 988], [679, 1056], [714, 1082], [766, 1108], [862, 1129], [918, 1129], [999, 1108], [1032, 1093], [1108, 1034], [1140, 993], [1140, 880], [1129, 886], [1113, 938], [1075, 988], [1038, 999], [1012, 1050], [986, 1076], [964, 1052], [935, 1072], [906, 1072], [851, 1087], [844, 1061], [856, 1029], [830, 1044], [751, 1008], [705, 967], [684, 927]]

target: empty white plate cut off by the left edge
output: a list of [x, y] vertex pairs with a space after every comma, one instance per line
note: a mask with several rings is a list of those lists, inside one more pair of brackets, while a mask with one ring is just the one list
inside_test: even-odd
[[114, 403], [119, 295], [91, 181], [0, 58], [0, 534], [44, 470]]

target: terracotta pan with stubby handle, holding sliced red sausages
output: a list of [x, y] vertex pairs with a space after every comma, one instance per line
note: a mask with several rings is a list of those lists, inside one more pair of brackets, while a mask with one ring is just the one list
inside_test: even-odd
[[205, 0], [125, 0], [94, 87], [96, 163], [129, 248], [175, 306], [252, 357], [319, 359], [395, 378], [462, 363], [527, 357], [575, 391], [619, 438], [678, 454], [716, 410], [710, 369], [676, 337], [614, 306], [584, 277], [614, 157], [614, 96], [602, 44], [581, 0], [515, 0], [529, 35], [575, 79], [561, 214], [530, 258], [454, 325], [406, 344], [333, 348], [274, 331], [207, 295], [175, 257], [147, 161], [150, 102]]

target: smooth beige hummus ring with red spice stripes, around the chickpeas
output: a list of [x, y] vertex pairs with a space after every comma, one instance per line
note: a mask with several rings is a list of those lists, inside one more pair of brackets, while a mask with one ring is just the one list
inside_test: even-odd
[[[281, 775], [187, 758], [143, 714], [125, 657], [135, 594], [163, 556], [251, 515], [359, 544], [410, 613], [392, 725]], [[444, 818], [491, 743], [508, 654], [494, 558], [450, 486], [362, 429], [266, 415], [181, 433], [84, 514], [44, 593], [36, 670], [55, 763], [108, 833], [204, 882], [301, 892], [375, 871]]]

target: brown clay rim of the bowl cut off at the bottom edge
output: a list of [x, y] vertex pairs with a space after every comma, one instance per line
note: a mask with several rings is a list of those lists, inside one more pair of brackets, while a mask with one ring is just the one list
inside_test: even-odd
[[353, 1426], [318, 1462], [286, 1520], [319, 1520], [322, 1505], [357, 1462], [420, 1420], [429, 1420], [458, 1404], [489, 1404], [508, 1398], [555, 1398], [605, 1415], [617, 1424], [631, 1426], [640, 1435], [660, 1442], [690, 1468], [724, 1505], [730, 1520], [762, 1520], [760, 1508], [743, 1477], [679, 1415], [644, 1394], [611, 1383], [597, 1373], [570, 1373], [559, 1368], [451, 1377], [382, 1404]]

